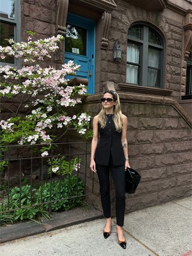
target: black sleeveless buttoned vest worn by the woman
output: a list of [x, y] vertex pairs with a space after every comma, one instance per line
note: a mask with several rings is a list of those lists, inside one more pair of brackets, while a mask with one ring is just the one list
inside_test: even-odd
[[100, 141], [95, 151], [95, 163], [98, 165], [109, 165], [109, 159], [111, 157], [113, 166], [124, 165], [125, 156], [121, 142], [122, 132], [116, 132], [113, 114], [106, 116], [107, 123], [104, 129], [98, 123]]

